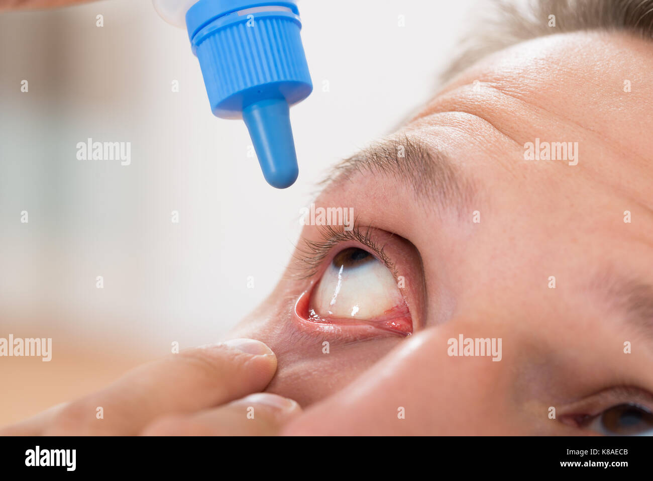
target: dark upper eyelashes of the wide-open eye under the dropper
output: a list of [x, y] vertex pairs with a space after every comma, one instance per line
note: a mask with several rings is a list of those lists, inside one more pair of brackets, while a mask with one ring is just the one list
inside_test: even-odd
[[342, 226], [340, 229], [336, 229], [333, 225], [320, 225], [318, 228], [322, 240], [304, 240], [302, 246], [297, 246], [294, 257], [298, 263], [293, 273], [296, 278], [302, 280], [315, 276], [321, 270], [324, 260], [333, 248], [348, 241], [355, 241], [366, 246], [396, 277], [394, 263], [384, 252], [385, 246], [379, 246], [372, 238], [373, 227], [371, 225], [362, 229], [355, 222], [350, 231], [345, 231]]

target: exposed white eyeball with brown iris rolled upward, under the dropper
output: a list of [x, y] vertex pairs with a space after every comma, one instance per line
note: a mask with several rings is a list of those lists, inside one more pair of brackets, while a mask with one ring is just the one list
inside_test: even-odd
[[356, 247], [334, 257], [309, 305], [313, 320], [389, 320], [406, 314], [392, 273], [372, 254]]

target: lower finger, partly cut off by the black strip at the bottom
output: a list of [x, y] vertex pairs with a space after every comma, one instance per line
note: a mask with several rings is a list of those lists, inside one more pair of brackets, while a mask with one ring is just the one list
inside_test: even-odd
[[151, 423], [144, 436], [274, 436], [302, 408], [286, 397], [256, 393], [224, 406]]

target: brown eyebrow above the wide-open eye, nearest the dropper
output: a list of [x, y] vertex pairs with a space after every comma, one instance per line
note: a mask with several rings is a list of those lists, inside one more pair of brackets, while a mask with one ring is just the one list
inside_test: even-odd
[[386, 176], [410, 186], [419, 201], [468, 210], [477, 192], [469, 178], [443, 152], [406, 133], [374, 142], [336, 165], [319, 183], [330, 190], [357, 174]]

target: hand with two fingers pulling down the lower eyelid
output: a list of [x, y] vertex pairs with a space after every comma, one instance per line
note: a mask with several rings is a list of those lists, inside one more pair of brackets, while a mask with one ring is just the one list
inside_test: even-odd
[[276, 369], [276, 356], [258, 340], [194, 348], [0, 435], [274, 435], [301, 412], [291, 399], [260, 392]]

